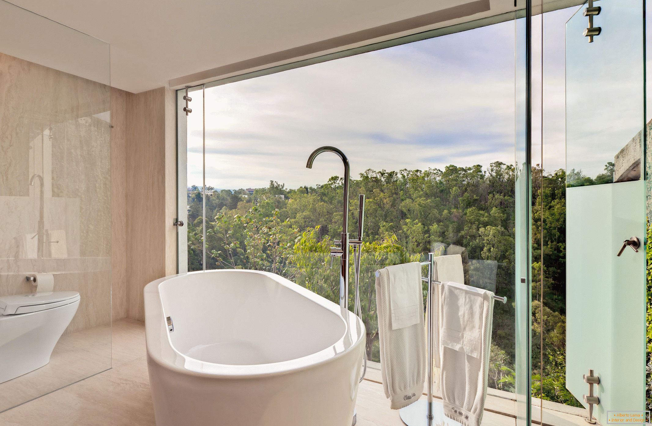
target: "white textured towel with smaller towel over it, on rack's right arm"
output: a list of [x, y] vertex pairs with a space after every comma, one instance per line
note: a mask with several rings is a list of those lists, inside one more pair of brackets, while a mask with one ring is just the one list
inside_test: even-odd
[[494, 293], [456, 282], [439, 285], [439, 354], [444, 414], [479, 426], [486, 399]]

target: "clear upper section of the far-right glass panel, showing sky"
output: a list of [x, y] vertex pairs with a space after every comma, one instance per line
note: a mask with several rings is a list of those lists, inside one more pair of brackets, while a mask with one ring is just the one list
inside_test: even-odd
[[[622, 0], [618, 7], [603, 6], [594, 18], [602, 33], [592, 43], [582, 36], [587, 27], [584, 7], [566, 24], [567, 35], [578, 35], [566, 38], [569, 187], [641, 179], [642, 3]], [[584, 93], [591, 96], [584, 97]]]

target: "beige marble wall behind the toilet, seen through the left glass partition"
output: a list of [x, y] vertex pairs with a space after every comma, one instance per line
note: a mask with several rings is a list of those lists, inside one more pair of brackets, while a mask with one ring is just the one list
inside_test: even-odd
[[0, 296], [54, 273], [81, 294], [67, 333], [111, 321], [109, 121], [108, 86], [0, 53]]

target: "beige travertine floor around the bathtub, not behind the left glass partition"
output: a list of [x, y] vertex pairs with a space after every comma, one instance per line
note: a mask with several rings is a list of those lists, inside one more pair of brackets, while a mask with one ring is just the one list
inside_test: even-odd
[[[358, 425], [403, 425], [398, 412], [389, 409], [383, 386], [372, 380], [360, 386]], [[154, 426], [143, 323], [113, 323], [113, 369], [0, 413], [0, 425]], [[515, 426], [516, 421], [485, 412], [482, 425]]]

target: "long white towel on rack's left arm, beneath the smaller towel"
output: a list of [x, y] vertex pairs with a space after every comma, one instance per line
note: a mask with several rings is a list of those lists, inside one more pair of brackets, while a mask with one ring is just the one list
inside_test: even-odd
[[[421, 296], [421, 265], [410, 264], [419, 272], [419, 281], [413, 282], [410, 292], [419, 294], [419, 309], [423, 312]], [[376, 311], [380, 341], [380, 366], [385, 396], [391, 408], [399, 410], [417, 401], [423, 393], [426, 376], [426, 333], [424, 317], [412, 326], [392, 329], [390, 303], [390, 274], [387, 268], [376, 277]]]

